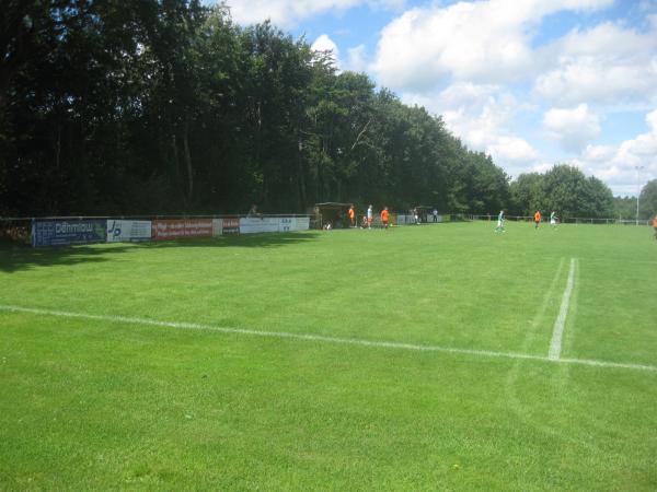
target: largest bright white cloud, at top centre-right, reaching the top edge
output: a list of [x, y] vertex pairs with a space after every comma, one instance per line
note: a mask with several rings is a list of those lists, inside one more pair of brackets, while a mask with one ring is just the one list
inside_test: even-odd
[[531, 28], [563, 9], [611, 0], [489, 0], [415, 8], [384, 27], [371, 71], [383, 85], [426, 90], [437, 80], [502, 82], [534, 66]]

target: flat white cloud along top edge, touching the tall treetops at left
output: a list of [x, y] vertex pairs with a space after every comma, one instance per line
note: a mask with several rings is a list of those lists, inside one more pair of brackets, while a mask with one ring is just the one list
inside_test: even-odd
[[239, 24], [270, 19], [278, 27], [291, 27], [304, 19], [326, 12], [341, 14], [362, 4], [373, 10], [399, 10], [405, 0], [229, 0], [228, 4]]

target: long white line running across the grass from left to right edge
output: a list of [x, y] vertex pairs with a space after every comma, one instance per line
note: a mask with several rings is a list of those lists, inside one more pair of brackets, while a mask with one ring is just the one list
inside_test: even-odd
[[553, 362], [553, 363], [556, 362], [556, 363], [561, 363], [561, 364], [579, 364], [579, 365], [592, 365], [592, 366], [597, 366], [597, 367], [618, 367], [618, 368], [657, 372], [657, 366], [653, 366], [653, 365], [624, 364], [624, 363], [595, 361], [595, 360], [586, 360], [586, 359], [550, 359], [550, 358], [545, 358], [545, 356], [541, 356], [541, 355], [531, 355], [531, 354], [514, 353], [514, 352], [494, 352], [494, 351], [488, 351], [488, 350], [457, 349], [457, 348], [440, 347], [440, 345], [425, 345], [425, 344], [415, 344], [415, 343], [361, 340], [361, 339], [356, 339], [356, 338], [324, 337], [321, 335], [290, 333], [290, 332], [286, 332], [286, 331], [261, 331], [261, 330], [252, 330], [252, 329], [246, 329], [246, 328], [230, 328], [230, 327], [221, 327], [221, 326], [214, 326], [214, 325], [200, 325], [197, 323], [159, 321], [159, 320], [154, 320], [154, 319], [135, 318], [135, 317], [127, 317], [127, 316], [92, 315], [92, 314], [85, 314], [85, 313], [71, 313], [71, 312], [67, 312], [67, 311], [41, 309], [41, 308], [34, 308], [34, 307], [0, 305], [0, 312], [28, 313], [28, 314], [39, 315], [39, 316], [89, 319], [89, 320], [93, 320], [93, 321], [110, 321], [110, 323], [118, 323], [118, 324], [157, 326], [157, 327], [188, 329], [188, 330], [204, 330], [204, 331], [215, 331], [215, 332], [220, 332], [220, 333], [247, 335], [247, 336], [253, 336], [253, 337], [285, 338], [285, 339], [292, 339], [292, 340], [318, 341], [318, 342], [325, 342], [325, 343], [339, 343], [339, 344], [346, 344], [346, 345], [374, 347], [374, 348], [381, 348], [381, 349], [411, 350], [411, 351], [417, 351], [417, 352], [443, 352], [443, 353], [465, 354], [465, 355], [475, 355], [475, 356], [495, 358], [495, 359], [523, 359], [523, 360], [531, 360], [531, 361], [542, 361], [542, 362]]

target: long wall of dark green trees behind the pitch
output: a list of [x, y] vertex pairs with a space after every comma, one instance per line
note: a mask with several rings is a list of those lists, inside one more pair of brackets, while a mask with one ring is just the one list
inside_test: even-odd
[[587, 216], [614, 207], [601, 181], [568, 166], [509, 183], [440, 116], [338, 72], [330, 52], [268, 22], [237, 25], [224, 4], [3, 5], [3, 215], [304, 212], [323, 201], [462, 213], [564, 203], [555, 208]]

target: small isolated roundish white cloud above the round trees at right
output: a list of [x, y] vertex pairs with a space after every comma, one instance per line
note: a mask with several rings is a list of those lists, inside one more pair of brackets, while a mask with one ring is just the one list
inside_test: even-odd
[[600, 122], [586, 104], [572, 109], [553, 108], [545, 113], [543, 126], [567, 152], [579, 152], [600, 134]]

